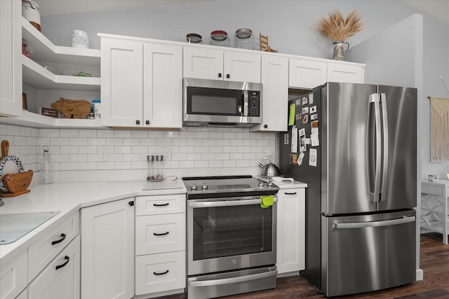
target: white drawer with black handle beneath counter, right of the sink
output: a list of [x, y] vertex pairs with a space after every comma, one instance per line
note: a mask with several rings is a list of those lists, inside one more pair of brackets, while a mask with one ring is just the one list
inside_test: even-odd
[[31, 282], [48, 263], [79, 235], [79, 211], [60, 219], [51, 231], [28, 247], [28, 282]]

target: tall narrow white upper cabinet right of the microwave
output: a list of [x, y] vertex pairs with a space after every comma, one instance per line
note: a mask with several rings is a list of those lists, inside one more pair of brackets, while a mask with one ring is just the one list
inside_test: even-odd
[[288, 57], [262, 55], [262, 124], [251, 131], [286, 131]]

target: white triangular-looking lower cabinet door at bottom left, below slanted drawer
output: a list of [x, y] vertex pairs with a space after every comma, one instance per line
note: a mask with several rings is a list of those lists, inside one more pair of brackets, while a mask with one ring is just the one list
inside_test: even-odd
[[28, 286], [31, 299], [79, 299], [80, 237], [77, 236]]

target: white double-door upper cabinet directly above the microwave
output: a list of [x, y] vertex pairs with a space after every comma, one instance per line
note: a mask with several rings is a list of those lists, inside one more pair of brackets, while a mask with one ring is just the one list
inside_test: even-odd
[[260, 83], [260, 54], [185, 46], [184, 77]]

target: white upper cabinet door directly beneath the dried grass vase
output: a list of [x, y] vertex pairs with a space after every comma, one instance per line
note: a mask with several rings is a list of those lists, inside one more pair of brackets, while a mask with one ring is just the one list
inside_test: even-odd
[[328, 82], [365, 83], [364, 68], [359, 64], [328, 63]]

